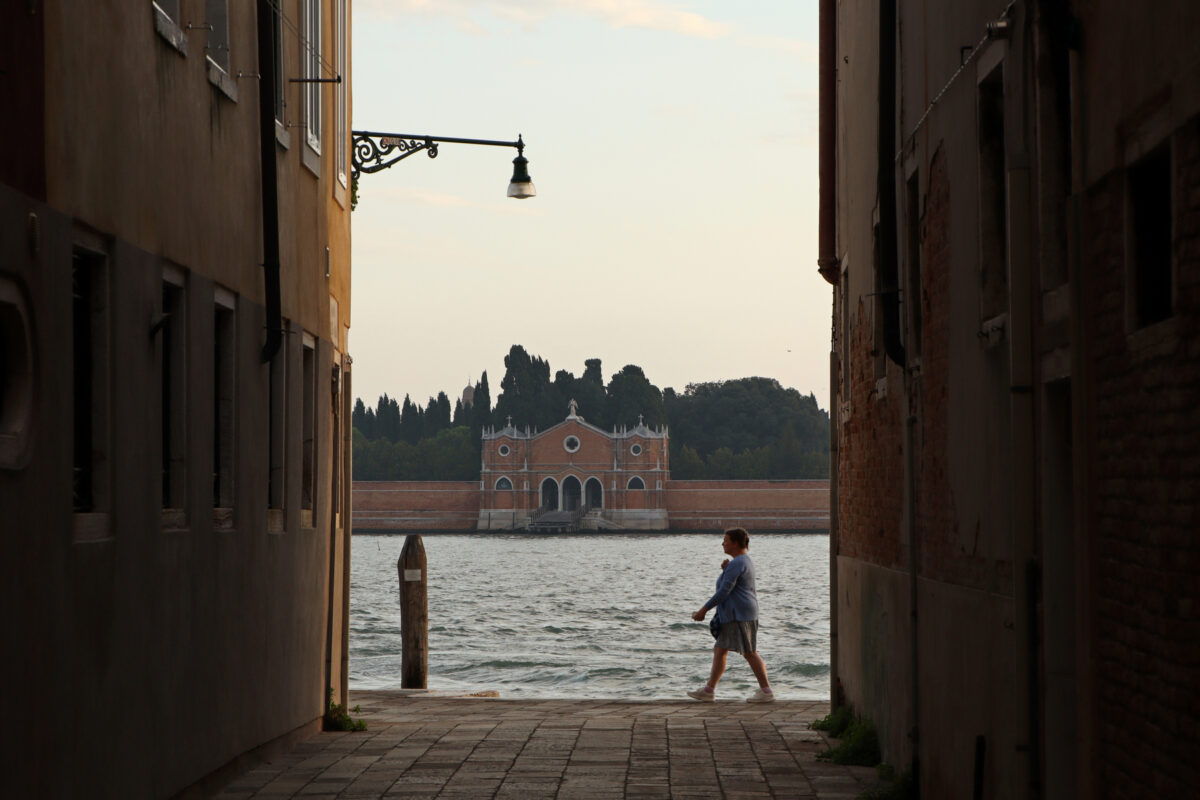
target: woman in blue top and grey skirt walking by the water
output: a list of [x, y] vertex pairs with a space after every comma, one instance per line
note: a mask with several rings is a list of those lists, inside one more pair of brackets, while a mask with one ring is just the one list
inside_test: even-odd
[[716, 579], [716, 593], [700, 610], [691, 615], [697, 622], [704, 621], [708, 609], [715, 608], [713, 633], [716, 644], [713, 645], [713, 670], [708, 684], [688, 696], [710, 703], [716, 697], [716, 681], [725, 673], [725, 660], [730, 650], [740, 652], [758, 679], [758, 691], [746, 698], [749, 703], [772, 703], [775, 699], [767, 681], [767, 664], [758, 655], [758, 595], [754, 585], [754, 561], [746, 551], [750, 548], [750, 534], [744, 528], [730, 528], [725, 531], [721, 547], [730, 557], [721, 563], [721, 576]]

